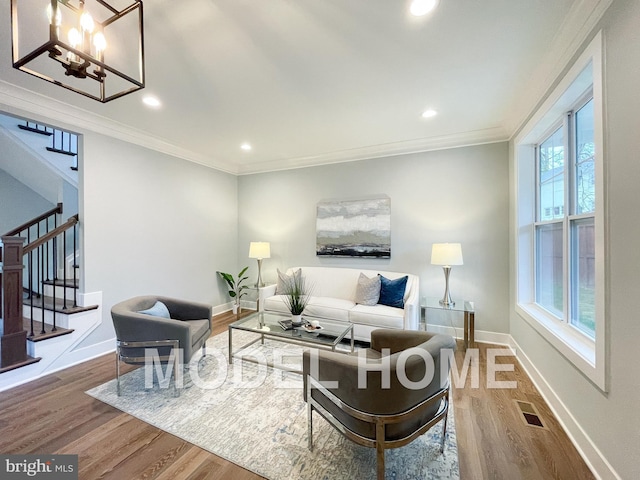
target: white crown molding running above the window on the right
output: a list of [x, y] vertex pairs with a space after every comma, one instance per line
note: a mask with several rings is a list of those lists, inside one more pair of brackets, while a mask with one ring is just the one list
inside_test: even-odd
[[552, 47], [530, 77], [507, 115], [505, 128], [514, 138], [533, 116], [548, 92], [558, 82], [571, 59], [593, 33], [613, 0], [576, 0], [558, 29]]

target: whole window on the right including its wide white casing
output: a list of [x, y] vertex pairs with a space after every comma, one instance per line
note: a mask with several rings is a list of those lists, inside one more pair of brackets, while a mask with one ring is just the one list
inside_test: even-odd
[[602, 35], [514, 139], [516, 313], [606, 391]]

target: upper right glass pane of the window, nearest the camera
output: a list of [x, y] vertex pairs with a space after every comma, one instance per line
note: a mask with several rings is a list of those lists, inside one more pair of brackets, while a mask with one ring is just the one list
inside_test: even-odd
[[576, 213], [595, 211], [593, 99], [576, 112]]

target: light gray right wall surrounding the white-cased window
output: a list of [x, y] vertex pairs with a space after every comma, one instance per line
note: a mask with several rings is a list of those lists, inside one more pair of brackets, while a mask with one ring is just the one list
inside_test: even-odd
[[[587, 380], [518, 316], [513, 308], [515, 292], [511, 292], [511, 335], [543, 377], [543, 387], [552, 392], [552, 400], [570, 434], [586, 443], [588, 439], [593, 442], [583, 443], [583, 449], [604, 478], [615, 478], [612, 472], [624, 479], [637, 478], [640, 468], [640, 367], [635, 355], [640, 339], [638, 19], [640, 2], [616, 0], [596, 29], [603, 29], [605, 43], [608, 392]], [[511, 181], [514, 184], [515, 178]], [[511, 208], [513, 216], [514, 198]], [[512, 228], [512, 252], [515, 241]], [[515, 270], [511, 270], [515, 284]], [[597, 458], [598, 451], [602, 458]]]

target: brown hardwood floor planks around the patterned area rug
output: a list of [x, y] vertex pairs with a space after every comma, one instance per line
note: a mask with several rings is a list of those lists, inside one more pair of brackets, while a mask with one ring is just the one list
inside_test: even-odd
[[[213, 335], [233, 320], [215, 317]], [[467, 379], [453, 389], [461, 478], [594, 478], [513, 357], [498, 357], [515, 370], [496, 379], [518, 388], [486, 388], [492, 347], [479, 345], [480, 387]], [[456, 353], [459, 368], [464, 354]], [[83, 480], [262, 478], [84, 393], [114, 376], [114, 357], [106, 355], [1, 392], [0, 452], [77, 454]], [[526, 425], [514, 400], [533, 403], [545, 428]]]

